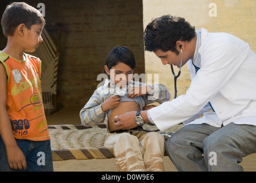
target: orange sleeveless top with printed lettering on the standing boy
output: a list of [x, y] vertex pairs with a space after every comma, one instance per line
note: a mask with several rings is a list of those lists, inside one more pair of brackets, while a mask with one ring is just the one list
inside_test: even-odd
[[41, 90], [41, 61], [24, 54], [18, 61], [0, 51], [7, 73], [7, 113], [14, 137], [31, 141], [49, 140]]

